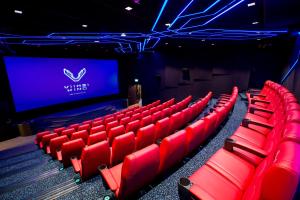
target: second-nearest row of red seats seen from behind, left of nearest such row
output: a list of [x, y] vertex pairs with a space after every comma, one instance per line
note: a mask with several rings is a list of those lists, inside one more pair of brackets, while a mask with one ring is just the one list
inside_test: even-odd
[[[197, 115], [201, 113], [210, 98], [211, 92], [194, 104], [196, 106], [193, 106], [193, 109], [198, 109], [195, 112]], [[189, 107], [189, 110], [192, 110], [192, 107]], [[150, 124], [139, 128], [136, 135], [133, 132], [118, 135], [113, 139], [111, 147], [109, 138], [90, 146], [84, 146], [84, 142], [77, 139], [64, 143], [62, 150], [57, 153], [61, 154], [64, 167], [72, 164], [75, 173], [80, 173], [81, 179], [85, 180], [98, 173], [98, 166], [102, 164], [115, 166], [123, 162], [126, 155], [159, 142], [164, 137], [174, 133], [178, 124], [184, 126], [183, 123], [187, 123], [184, 114], [184, 112], [179, 111], [171, 115], [170, 118], [166, 117], [157, 121], [155, 125]]]

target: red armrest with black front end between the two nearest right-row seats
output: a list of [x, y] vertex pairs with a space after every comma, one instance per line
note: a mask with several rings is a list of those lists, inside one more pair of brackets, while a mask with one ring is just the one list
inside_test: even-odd
[[238, 149], [242, 149], [244, 151], [247, 151], [249, 153], [252, 153], [260, 158], [265, 158], [267, 157], [267, 152], [257, 148], [251, 144], [248, 144], [246, 142], [242, 142], [242, 141], [237, 141], [237, 140], [233, 140], [231, 138], [226, 138], [225, 143], [224, 143], [224, 149], [226, 149], [227, 151], [233, 152], [234, 148], [238, 148]]

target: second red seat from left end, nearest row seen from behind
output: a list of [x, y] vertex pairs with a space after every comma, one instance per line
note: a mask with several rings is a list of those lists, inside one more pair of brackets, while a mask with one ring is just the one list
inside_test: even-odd
[[178, 131], [164, 138], [159, 146], [159, 173], [165, 172], [178, 164], [185, 156], [185, 130]]

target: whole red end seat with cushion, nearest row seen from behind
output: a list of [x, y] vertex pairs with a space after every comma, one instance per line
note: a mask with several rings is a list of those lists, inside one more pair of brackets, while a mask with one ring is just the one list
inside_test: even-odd
[[157, 175], [159, 147], [156, 144], [125, 157], [124, 162], [100, 172], [118, 199], [124, 199], [149, 184]]

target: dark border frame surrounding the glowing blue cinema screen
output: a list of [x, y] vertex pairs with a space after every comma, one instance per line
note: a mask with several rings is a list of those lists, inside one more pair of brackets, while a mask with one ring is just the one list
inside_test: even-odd
[[[92, 97], [92, 98], [87, 98], [87, 99], [80, 99], [80, 100], [74, 100], [74, 101], [68, 101], [68, 102], [63, 102], [63, 103], [58, 103], [58, 104], [52, 104], [49, 106], [43, 106], [43, 107], [39, 107], [39, 108], [34, 108], [34, 109], [29, 109], [29, 110], [25, 110], [25, 111], [17, 111], [16, 110], [16, 105], [15, 105], [15, 101], [14, 101], [14, 96], [13, 96], [13, 91], [11, 88], [11, 84], [10, 84], [10, 80], [9, 80], [9, 75], [7, 72], [7, 66], [5, 65], [4, 62], [4, 57], [24, 57], [24, 58], [46, 58], [46, 59], [75, 59], [75, 60], [80, 60], [80, 59], [94, 59], [94, 60], [114, 60], [117, 62], [117, 73], [118, 73], [118, 94], [113, 94], [113, 95], [105, 95], [105, 96], [98, 96], [98, 97]], [[115, 99], [120, 99], [122, 97], [122, 89], [121, 89], [121, 85], [120, 85], [120, 62], [119, 59], [117, 58], [95, 58], [95, 57], [68, 57], [68, 56], [64, 56], [64, 57], [59, 57], [59, 56], [55, 56], [55, 57], [42, 57], [42, 56], [15, 56], [15, 55], [3, 55], [1, 57], [1, 63], [2, 63], [2, 67], [3, 67], [3, 72], [4, 72], [4, 77], [6, 80], [4, 80], [6, 82], [6, 92], [8, 94], [8, 101], [9, 101], [9, 107], [10, 110], [12, 111], [12, 114], [14, 117], [17, 118], [24, 118], [24, 117], [36, 117], [39, 115], [43, 115], [43, 114], [50, 114], [50, 113], [55, 113], [55, 112], [61, 112], [64, 110], [68, 110], [68, 109], [73, 109], [73, 108], [78, 108], [81, 106], [85, 106], [85, 105], [91, 105], [91, 104], [96, 104], [96, 103], [100, 103], [100, 102], [104, 102], [104, 101], [110, 101], [110, 100], [115, 100]]]

